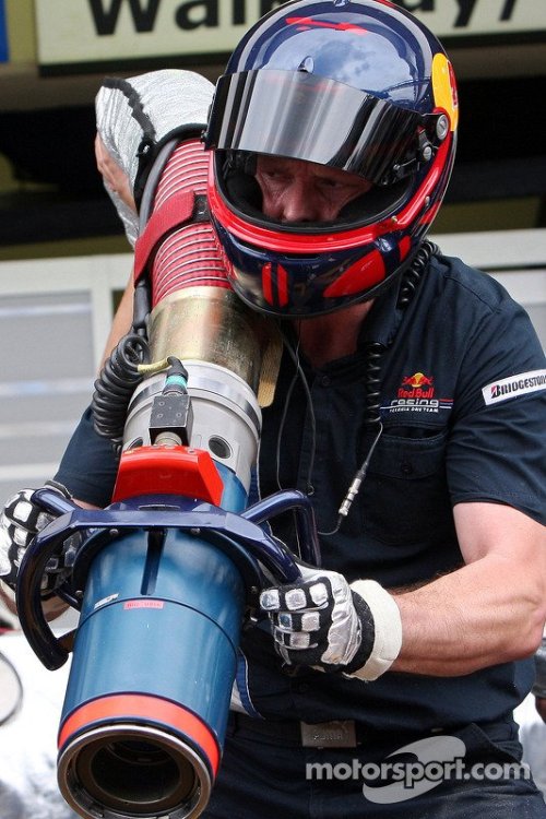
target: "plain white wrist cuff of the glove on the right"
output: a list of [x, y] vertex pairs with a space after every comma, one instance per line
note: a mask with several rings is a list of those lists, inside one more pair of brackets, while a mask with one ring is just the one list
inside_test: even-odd
[[402, 619], [394, 597], [375, 580], [355, 580], [351, 589], [369, 607], [373, 618], [373, 646], [365, 664], [346, 676], [371, 681], [384, 674], [402, 648]]

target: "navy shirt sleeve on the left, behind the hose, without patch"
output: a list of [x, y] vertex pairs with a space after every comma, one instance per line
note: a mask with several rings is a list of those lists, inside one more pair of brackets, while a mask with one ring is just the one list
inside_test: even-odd
[[63, 484], [76, 500], [106, 507], [111, 502], [118, 464], [111, 442], [95, 431], [91, 407], [87, 407], [68, 443], [55, 479]]

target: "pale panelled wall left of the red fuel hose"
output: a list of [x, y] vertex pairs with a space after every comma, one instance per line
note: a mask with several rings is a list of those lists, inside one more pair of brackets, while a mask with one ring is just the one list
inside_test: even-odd
[[55, 473], [130, 270], [130, 254], [0, 263], [0, 503]]

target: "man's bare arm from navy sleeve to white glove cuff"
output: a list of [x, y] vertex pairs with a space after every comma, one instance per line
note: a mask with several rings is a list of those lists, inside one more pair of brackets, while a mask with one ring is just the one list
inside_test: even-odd
[[460, 503], [465, 566], [394, 594], [402, 648], [392, 670], [458, 676], [531, 655], [546, 619], [546, 529], [512, 507]]

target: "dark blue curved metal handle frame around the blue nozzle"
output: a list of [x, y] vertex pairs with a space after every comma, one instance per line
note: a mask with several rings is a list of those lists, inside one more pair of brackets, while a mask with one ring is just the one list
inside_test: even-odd
[[[278, 514], [288, 508], [300, 508], [300, 498], [288, 492], [276, 496], [272, 501], [261, 502], [246, 511], [246, 514], [226, 512], [209, 503], [194, 505], [188, 499], [169, 496], [168, 505], [164, 496], [154, 496], [155, 509], [139, 508], [142, 498], [131, 502], [112, 505], [107, 509], [87, 510], [75, 506], [50, 489], [39, 489], [33, 501], [48, 512], [59, 514], [39, 532], [25, 551], [17, 575], [16, 605], [21, 626], [33, 651], [49, 669], [63, 665], [69, 656], [67, 640], [56, 638], [44, 616], [40, 597], [41, 577], [51, 555], [62, 548], [64, 541], [76, 532], [93, 530], [79, 549], [74, 566], [74, 579], [84, 585], [88, 566], [98, 550], [119, 537], [123, 532], [135, 530], [151, 531], [178, 529], [201, 537], [225, 551], [241, 570], [249, 587], [260, 587], [264, 578], [263, 566], [281, 583], [292, 583], [300, 575], [292, 551], [257, 522], [263, 523], [271, 514]], [[305, 496], [302, 496], [305, 497]], [[151, 506], [150, 503], [146, 503]], [[157, 506], [164, 506], [158, 509]], [[178, 505], [179, 508], [173, 507]], [[269, 511], [269, 515], [268, 515]], [[308, 511], [301, 514], [301, 530], [311, 525]], [[72, 592], [76, 591], [72, 590]], [[69, 589], [59, 590], [59, 596], [70, 605], [79, 607], [78, 598]]]

